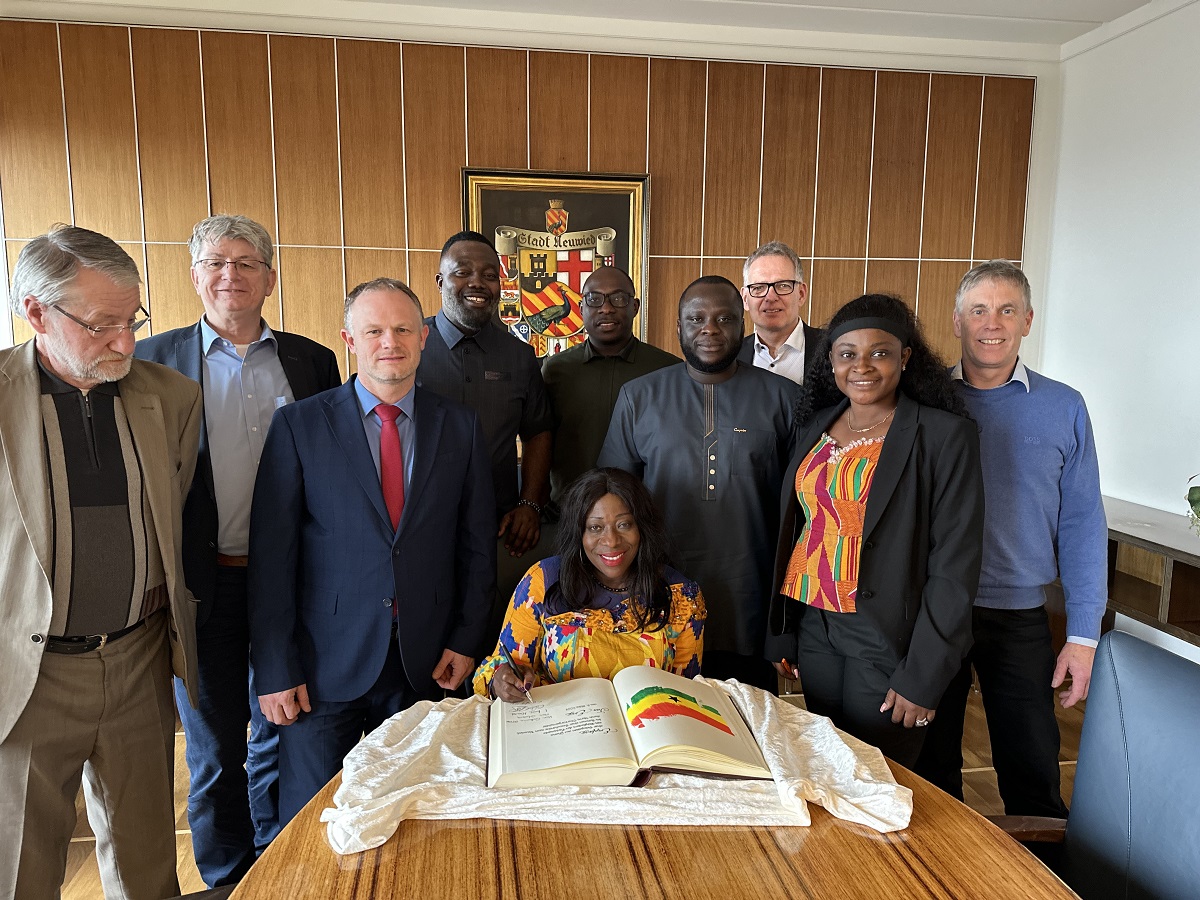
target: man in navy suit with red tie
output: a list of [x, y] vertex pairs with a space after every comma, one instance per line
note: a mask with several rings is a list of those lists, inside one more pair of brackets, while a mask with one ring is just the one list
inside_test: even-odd
[[475, 413], [415, 386], [428, 326], [402, 282], [346, 299], [358, 376], [281, 408], [254, 485], [254, 685], [280, 730], [287, 822], [388, 716], [474, 671], [496, 587]]

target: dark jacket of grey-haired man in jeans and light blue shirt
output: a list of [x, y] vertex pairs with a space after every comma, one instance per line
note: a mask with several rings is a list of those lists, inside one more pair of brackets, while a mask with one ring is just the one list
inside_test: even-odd
[[[296, 400], [336, 388], [342, 383], [334, 352], [316, 341], [287, 331], [275, 331], [283, 374]], [[174, 368], [204, 389], [204, 362], [200, 348], [200, 323], [163, 331], [143, 338], [133, 350], [138, 359]], [[212, 458], [209, 455], [208, 422], [200, 428], [200, 451], [196, 476], [184, 505], [184, 577], [199, 601], [197, 626], [204, 624], [212, 608], [217, 578], [217, 500], [212, 485]]]

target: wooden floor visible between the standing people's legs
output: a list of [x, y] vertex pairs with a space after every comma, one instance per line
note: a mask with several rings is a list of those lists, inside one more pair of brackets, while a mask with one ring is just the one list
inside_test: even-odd
[[[1056, 707], [1057, 708], [1057, 707]], [[1075, 782], [1075, 761], [1079, 757], [1079, 732], [1084, 724], [1084, 703], [1074, 709], [1057, 708], [1058, 727], [1062, 733], [1062, 797], [1070, 804]], [[967, 703], [966, 734], [962, 742], [962, 791], [967, 805], [984, 815], [1004, 811], [996, 791], [996, 770], [991, 768], [991, 748], [988, 742], [988, 722], [984, 720], [979, 695], [972, 691]], [[84, 811], [83, 794], [76, 799], [79, 815], [71, 851], [67, 856], [64, 900], [102, 900], [100, 871], [96, 868], [96, 840]], [[184, 733], [175, 736], [175, 846], [179, 857], [179, 886], [182, 893], [203, 890], [204, 882], [192, 860], [192, 833], [187, 828], [187, 766], [184, 763]]]

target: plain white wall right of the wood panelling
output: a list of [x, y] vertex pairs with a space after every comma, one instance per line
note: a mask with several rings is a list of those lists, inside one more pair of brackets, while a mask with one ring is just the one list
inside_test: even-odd
[[1183, 512], [1200, 472], [1200, 4], [1147, 19], [1062, 64], [1040, 364], [1087, 400], [1104, 493]]

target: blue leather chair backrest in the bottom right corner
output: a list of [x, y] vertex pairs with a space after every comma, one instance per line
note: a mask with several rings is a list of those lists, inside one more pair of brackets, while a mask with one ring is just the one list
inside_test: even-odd
[[1200, 898], [1200, 666], [1100, 640], [1063, 862], [1084, 900]]

